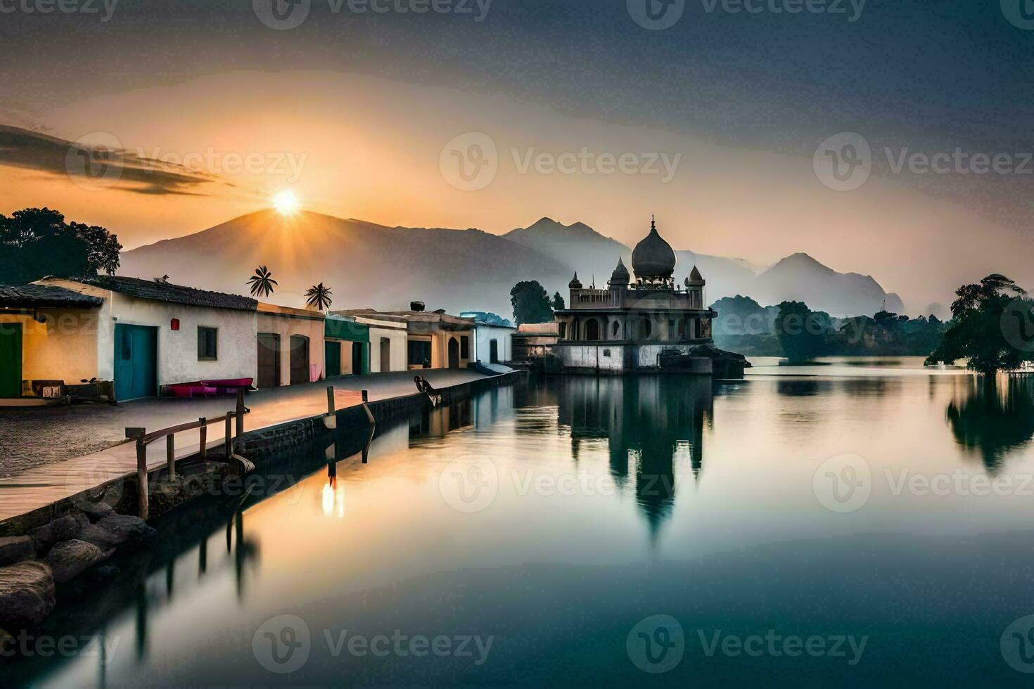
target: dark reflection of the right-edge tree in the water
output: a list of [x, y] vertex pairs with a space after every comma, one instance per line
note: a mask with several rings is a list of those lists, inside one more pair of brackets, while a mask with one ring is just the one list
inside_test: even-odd
[[1034, 437], [1034, 383], [1028, 376], [973, 378], [948, 405], [947, 417], [955, 440], [996, 471]]

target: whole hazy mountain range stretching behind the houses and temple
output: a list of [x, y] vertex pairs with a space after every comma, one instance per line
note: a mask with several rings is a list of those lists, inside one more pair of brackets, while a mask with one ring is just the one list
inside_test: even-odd
[[[305, 290], [323, 282], [334, 290], [334, 308], [398, 310], [422, 301], [428, 309], [509, 317], [510, 289], [517, 282], [538, 280], [566, 300], [575, 271], [586, 286], [595, 281], [603, 287], [618, 256], [631, 269], [631, 255], [629, 247], [584, 223], [564, 225], [549, 218], [497, 236], [261, 211], [123, 252], [119, 274], [168, 275], [174, 283], [239, 293], [263, 264], [278, 282], [269, 301], [288, 306], [300, 306]], [[744, 294], [761, 304], [799, 300], [833, 315], [872, 315], [886, 300], [887, 310], [904, 311], [898, 295], [872, 277], [837, 273], [802, 253], [763, 271], [736, 258], [676, 255], [676, 279], [697, 265], [707, 280], [708, 303]]]

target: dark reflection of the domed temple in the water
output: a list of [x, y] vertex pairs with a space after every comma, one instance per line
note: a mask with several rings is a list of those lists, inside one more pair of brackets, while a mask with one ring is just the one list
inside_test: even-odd
[[572, 453], [586, 439], [606, 438], [618, 486], [635, 479], [636, 500], [656, 534], [671, 513], [675, 470], [689, 462], [703, 470], [703, 429], [710, 424], [711, 383], [689, 376], [559, 379], [559, 424], [570, 427]]

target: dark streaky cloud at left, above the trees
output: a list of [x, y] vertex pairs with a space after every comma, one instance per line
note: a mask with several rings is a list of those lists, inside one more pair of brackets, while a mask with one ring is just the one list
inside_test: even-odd
[[[116, 142], [114, 136], [105, 135]], [[149, 195], [208, 195], [205, 187], [227, 183], [214, 175], [120, 147], [81, 144], [38, 131], [0, 125], [0, 165], [75, 178], [94, 178], [104, 186]], [[232, 186], [232, 185], [229, 185]]]

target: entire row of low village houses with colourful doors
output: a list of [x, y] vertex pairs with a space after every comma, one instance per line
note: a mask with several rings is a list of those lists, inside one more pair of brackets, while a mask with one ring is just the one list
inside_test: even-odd
[[114, 381], [124, 401], [510, 361], [515, 328], [420, 308], [324, 314], [118, 276], [0, 286], [0, 398]]

